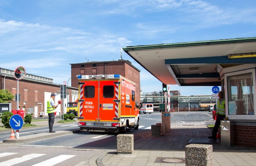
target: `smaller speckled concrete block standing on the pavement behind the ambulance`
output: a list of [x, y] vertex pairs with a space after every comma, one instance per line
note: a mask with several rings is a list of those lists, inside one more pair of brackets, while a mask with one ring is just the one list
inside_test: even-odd
[[116, 138], [117, 154], [132, 154], [134, 150], [133, 134], [118, 134]]

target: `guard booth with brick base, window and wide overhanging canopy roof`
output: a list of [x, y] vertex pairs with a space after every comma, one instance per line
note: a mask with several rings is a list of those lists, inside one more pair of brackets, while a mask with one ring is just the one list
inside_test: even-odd
[[[234, 124], [234, 144], [256, 148], [255, 37], [127, 46], [123, 50], [163, 84], [221, 86], [226, 117]], [[231, 136], [230, 129], [222, 139]]]

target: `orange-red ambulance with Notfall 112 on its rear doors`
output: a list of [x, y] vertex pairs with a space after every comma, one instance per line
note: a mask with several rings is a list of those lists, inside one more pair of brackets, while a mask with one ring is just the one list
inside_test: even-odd
[[135, 83], [120, 76], [78, 76], [80, 131], [122, 132], [139, 128]]

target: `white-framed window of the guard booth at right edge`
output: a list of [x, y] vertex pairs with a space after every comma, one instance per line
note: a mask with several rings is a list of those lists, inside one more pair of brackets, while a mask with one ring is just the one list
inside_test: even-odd
[[255, 72], [226, 77], [228, 115], [254, 115], [254, 77]]

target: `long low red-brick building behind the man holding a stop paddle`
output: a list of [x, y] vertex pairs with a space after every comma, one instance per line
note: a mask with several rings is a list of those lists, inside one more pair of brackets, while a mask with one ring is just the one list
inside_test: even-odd
[[[17, 91], [20, 94], [20, 101], [18, 105], [19, 110], [24, 110], [26, 114], [34, 114], [34, 117], [39, 115], [47, 115], [47, 100], [50, 94], [55, 93], [55, 102], [62, 100], [60, 98], [60, 84], [54, 84], [53, 79], [27, 74], [22, 80], [19, 80], [19, 87], [17, 90], [17, 80], [14, 78], [14, 70], [0, 68], [0, 89], [9, 90], [14, 96]], [[78, 89], [68, 87], [67, 94], [69, 101], [75, 101], [78, 98]], [[62, 100], [63, 102], [63, 100]], [[67, 103], [67, 98], [64, 99], [64, 104]], [[17, 109], [17, 102], [15, 98], [11, 101], [11, 110]], [[62, 112], [62, 104], [56, 109], [57, 115]], [[1, 111], [0, 112], [4, 112]], [[44, 112], [44, 113], [42, 113]], [[66, 109], [64, 108], [64, 113]]]

